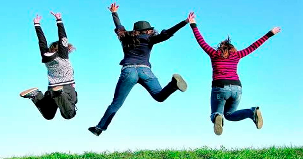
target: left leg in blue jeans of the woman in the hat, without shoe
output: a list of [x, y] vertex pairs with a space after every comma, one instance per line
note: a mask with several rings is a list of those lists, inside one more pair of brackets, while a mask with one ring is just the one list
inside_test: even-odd
[[115, 116], [119, 108], [124, 103], [127, 95], [132, 87], [138, 81], [138, 74], [135, 68], [125, 68], [122, 70], [118, 83], [116, 85], [115, 94], [111, 105], [108, 106], [102, 119], [96, 126], [98, 129], [106, 130], [112, 118]]

